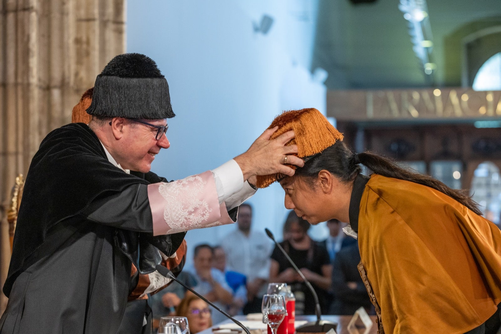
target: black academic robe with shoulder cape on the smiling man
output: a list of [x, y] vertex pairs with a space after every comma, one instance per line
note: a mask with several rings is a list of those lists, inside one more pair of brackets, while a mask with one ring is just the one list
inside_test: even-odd
[[185, 234], [152, 235], [146, 186], [162, 180], [116, 168], [85, 124], [52, 131], [26, 178], [0, 333], [116, 333], [132, 261], [152, 272]]

